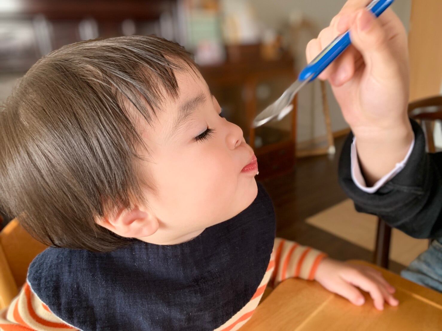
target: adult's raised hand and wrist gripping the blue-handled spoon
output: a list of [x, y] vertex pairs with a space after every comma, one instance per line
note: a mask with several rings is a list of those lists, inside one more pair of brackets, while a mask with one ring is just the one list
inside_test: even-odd
[[[327, 79], [357, 138], [367, 184], [407, 154], [413, 132], [408, 120], [407, 35], [390, 8], [375, 19], [367, 0], [348, 0], [307, 45], [310, 62], [337, 35], [350, 29], [352, 45], [319, 76]], [[382, 160], [382, 162], [379, 162]]]

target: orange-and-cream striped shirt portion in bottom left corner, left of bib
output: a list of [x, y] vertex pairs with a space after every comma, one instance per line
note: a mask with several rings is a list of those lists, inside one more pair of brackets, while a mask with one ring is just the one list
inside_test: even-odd
[[55, 316], [50, 308], [32, 292], [26, 282], [9, 307], [0, 312], [0, 330], [68, 331], [77, 329]]

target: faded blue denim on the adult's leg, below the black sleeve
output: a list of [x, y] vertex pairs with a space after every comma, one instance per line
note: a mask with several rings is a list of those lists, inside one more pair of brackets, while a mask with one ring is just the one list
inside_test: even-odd
[[400, 275], [442, 293], [442, 238], [434, 240]]

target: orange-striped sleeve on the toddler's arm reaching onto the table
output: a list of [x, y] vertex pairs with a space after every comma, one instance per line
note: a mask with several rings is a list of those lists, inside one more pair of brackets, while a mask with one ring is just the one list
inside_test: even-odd
[[275, 266], [270, 279], [273, 286], [293, 277], [313, 280], [318, 265], [326, 256], [314, 248], [281, 238], [275, 238], [273, 250]]

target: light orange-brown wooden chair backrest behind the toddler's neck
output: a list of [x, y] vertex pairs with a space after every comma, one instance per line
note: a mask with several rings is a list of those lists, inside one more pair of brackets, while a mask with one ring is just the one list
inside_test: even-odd
[[17, 219], [0, 232], [0, 309], [18, 294], [29, 264], [46, 247], [31, 237]]

